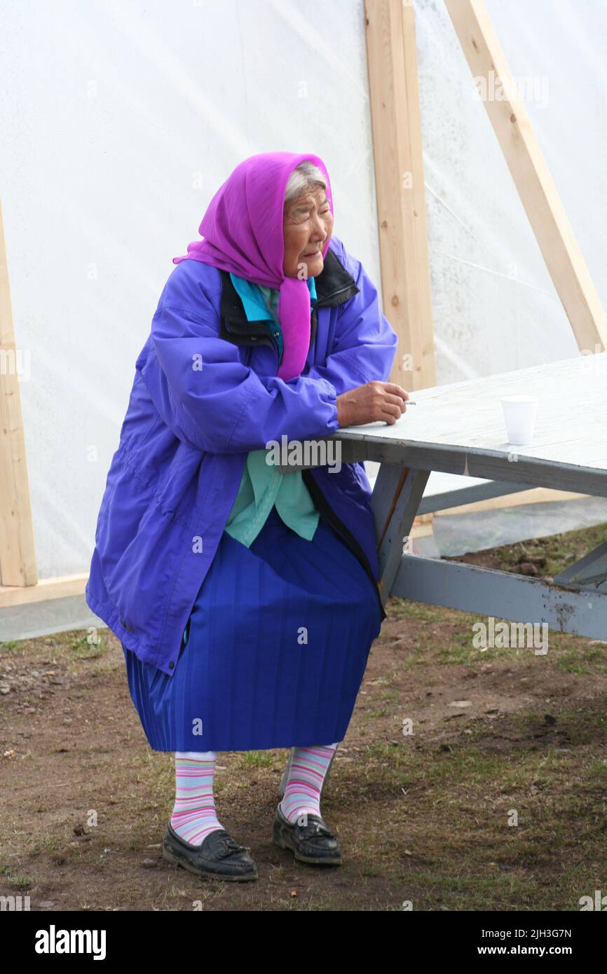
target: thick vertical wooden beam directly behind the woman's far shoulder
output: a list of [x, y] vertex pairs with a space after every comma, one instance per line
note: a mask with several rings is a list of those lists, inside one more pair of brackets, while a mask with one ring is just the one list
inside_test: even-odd
[[365, 0], [383, 307], [398, 334], [391, 380], [436, 385], [415, 14]]

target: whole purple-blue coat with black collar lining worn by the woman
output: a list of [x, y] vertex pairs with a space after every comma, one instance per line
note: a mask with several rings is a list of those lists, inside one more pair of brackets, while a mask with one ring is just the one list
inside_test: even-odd
[[[135, 362], [86, 596], [127, 649], [169, 675], [248, 450], [281, 442], [283, 434], [289, 440], [330, 435], [338, 429], [337, 395], [389, 380], [397, 335], [360, 261], [335, 237], [315, 282], [310, 350], [297, 379], [276, 375], [269, 321], [247, 321], [229, 274], [196, 260], [171, 272]], [[362, 464], [303, 476], [377, 588]]]

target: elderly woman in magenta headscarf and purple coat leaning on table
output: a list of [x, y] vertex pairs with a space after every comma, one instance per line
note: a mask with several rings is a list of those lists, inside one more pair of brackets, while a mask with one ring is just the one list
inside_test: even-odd
[[361, 464], [282, 473], [272, 441], [395, 423], [397, 336], [335, 237], [315, 155], [242, 162], [161, 294], [98, 514], [87, 585], [143, 731], [174, 752], [164, 841], [200, 876], [255, 880], [219, 822], [218, 751], [292, 748], [273, 841], [342, 861], [322, 783], [385, 613]]

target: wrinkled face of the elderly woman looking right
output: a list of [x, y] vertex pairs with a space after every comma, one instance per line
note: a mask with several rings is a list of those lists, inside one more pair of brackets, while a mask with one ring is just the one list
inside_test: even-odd
[[333, 214], [321, 186], [285, 206], [283, 218], [287, 278], [316, 278], [322, 272], [322, 250], [333, 231]]

